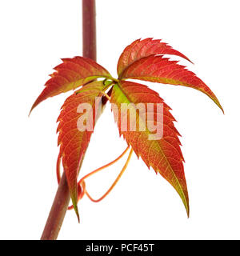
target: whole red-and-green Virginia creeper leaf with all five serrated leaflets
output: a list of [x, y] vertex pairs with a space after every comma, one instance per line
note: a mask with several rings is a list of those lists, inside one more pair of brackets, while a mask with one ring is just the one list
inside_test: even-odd
[[[186, 70], [185, 66], [178, 65], [178, 62], [163, 58], [164, 54], [176, 55], [190, 61], [171, 46], [153, 38], [138, 39], [123, 50], [118, 60], [118, 79], [112, 78], [105, 68], [90, 58], [64, 58], [62, 64], [54, 68], [55, 72], [50, 75], [51, 78], [46, 82], [45, 89], [34, 102], [30, 112], [46, 98], [82, 86], [66, 99], [58, 117], [58, 146], [60, 145], [58, 161], [62, 161], [66, 172], [70, 196], [78, 220], [78, 172], [95, 122], [102, 112], [102, 106], [109, 98], [115, 121], [118, 122], [119, 134], [123, 135], [127, 144], [133, 148], [138, 158], [142, 158], [148, 168], [151, 166], [157, 174], [161, 174], [174, 186], [189, 215], [184, 159], [178, 138], [180, 134], [174, 127], [175, 119], [170, 114], [171, 109], [154, 90], [125, 80], [130, 78], [191, 87], [209, 96], [221, 110], [222, 106], [200, 78]], [[97, 78], [106, 79], [97, 82]], [[106, 95], [103, 91], [112, 84], [114, 86]], [[149, 104], [151, 104], [150, 110]], [[159, 105], [162, 106], [160, 112]], [[123, 119], [122, 110], [126, 110]], [[131, 130], [134, 124], [135, 129]], [[161, 135], [155, 133], [156, 127], [161, 127]]]

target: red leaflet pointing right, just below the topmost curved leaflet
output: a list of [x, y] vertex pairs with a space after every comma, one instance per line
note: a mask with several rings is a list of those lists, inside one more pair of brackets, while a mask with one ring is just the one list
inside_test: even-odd
[[186, 70], [185, 66], [178, 65], [177, 63], [176, 61], [170, 61], [169, 58], [162, 58], [162, 56], [141, 58], [122, 72], [121, 79], [130, 78], [191, 87], [202, 91], [202, 93], [210, 97], [222, 110], [218, 98], [210, 88], [196, 74]]

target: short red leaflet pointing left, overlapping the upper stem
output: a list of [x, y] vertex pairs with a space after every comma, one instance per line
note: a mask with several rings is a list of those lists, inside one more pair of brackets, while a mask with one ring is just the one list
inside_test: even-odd
[[90, 58], [83, 57], [62, 58], [62, 63], [54, 70], [56, 72], [50, 75], [51, 78], [46, 82], [46, 87], [34, 102], [30, 112], [46, 98], [74, 90], [95, 78], [111, 78], [104, 67]]

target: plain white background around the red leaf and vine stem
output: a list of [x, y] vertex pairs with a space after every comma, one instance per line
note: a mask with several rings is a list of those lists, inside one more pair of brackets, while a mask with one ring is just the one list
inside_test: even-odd
[[[82, 54], [80, 0], [0, 3], [0, 238], [38, 239], [57, 190], [56, 119], [67, 95], [30, 106], [60, 63]], [[59, 239], [239, 239], [239, 1], [97, 0], [98, 62], [114, 76], [122, 50], [137, 38], [162, 38], [218, 96], [225, 115], [197, 90], [146, 83], [173, 109], [182, 134], [190, 218], [172, 186], [141, 160], [102, 202], [83, 198], [81, 223], [66, 214]], [[109, 105], [81, 175], [126, 147]], [[87, 181], [102, 195], [124, 159]]]

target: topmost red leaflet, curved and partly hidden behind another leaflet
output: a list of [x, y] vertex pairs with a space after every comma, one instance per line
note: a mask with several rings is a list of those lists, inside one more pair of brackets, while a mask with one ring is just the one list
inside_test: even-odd
[[118, 60], [118, 77], [121, 77], [122, 71], [132, 63], [138, 61], [138, 59], [157, 54], [176, 55], [190, 61], [185, 55], [181, 54], [178, 50], [174, 50], [165, 42], [161, 42], [161, 40], [146, 38], [141, 41], [138, 39], [132, 42], [130, 46], [126, 46], [125, 50], [123, 50]]

